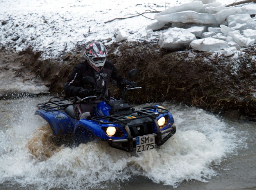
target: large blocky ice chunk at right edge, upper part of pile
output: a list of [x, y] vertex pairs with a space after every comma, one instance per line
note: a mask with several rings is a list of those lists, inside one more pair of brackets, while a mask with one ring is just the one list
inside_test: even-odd
[[242, 32], [246, 29], [256, 29], [256, 21], [249, 14], [236, 14], [227, 18], [228, 27]]

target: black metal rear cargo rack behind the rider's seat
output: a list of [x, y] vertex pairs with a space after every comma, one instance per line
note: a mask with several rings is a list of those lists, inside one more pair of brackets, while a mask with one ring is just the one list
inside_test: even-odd
[[65, 96], [61, 96], [61, 97], [53, 97], [51, 98], [48, 102], [45, 103], [39, 103], [36, 105], [37, 108], [45, 110], [45, 111], [58, 111], [60, 109], [65, 109], [67, 108], [69, 105], [73, 104], [73, 101], [71, 99], [60, 99], [63, 98]]

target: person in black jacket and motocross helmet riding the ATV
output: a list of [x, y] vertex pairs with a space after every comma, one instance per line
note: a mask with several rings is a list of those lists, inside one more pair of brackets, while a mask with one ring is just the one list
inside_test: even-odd
[[[107, 50], [101, 42], [92, 42], [85, 49], [85, 61], [76, 65], [72, 70], [67, 83], [64, 86], [64, 92], [67, 97], [74, 97], [73, 108], [76, 119], [90, 119], [93, 116], [93, 109], [97, 103], [102, 101], [101, 96], [87, 99], [82, 102], [81, 99], [104, 92], [109, 96], [109, 83], [116, 83], [116, 86], [123, 89], [125, 85], [137, 87], [136, 82], [131, 82], [117, 73], [114, 64], [107, 61]], [[95, 80], [96, 87], [84, 85], [83, 77], [90, 76]]]

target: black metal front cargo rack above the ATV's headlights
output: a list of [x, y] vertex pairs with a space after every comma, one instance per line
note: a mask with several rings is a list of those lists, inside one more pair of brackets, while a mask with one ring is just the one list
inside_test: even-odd
[[[157, 112], [154, 112], [157, 111]], [[141, 110], [136, 110], [132, 113], [120, 114], [120, 115], [109, 115], [109, 116], [95, 116], [91, 120], [99, 122], [101, 124], [111, 124], [111, 123], [124, 123], [127, 124], [131, 120], [141, 119], [144, 117], [151, 117], [155, 119], [159, 114], [168, 113], [169, 111], [164, 108], [158, 108], [156, 106], [146, 107]]]

